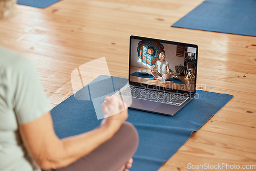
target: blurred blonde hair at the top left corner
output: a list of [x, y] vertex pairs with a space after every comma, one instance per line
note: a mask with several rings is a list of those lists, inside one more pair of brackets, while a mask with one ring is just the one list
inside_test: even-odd
[[15, 14], [17, 0], [0, 0], [0, 19], [7, 19]]

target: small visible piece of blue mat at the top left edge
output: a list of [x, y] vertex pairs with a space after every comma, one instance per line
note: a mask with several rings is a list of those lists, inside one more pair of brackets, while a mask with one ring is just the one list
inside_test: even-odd
[[59, 2], [60, 0], [18, 0], [17, 4], [19, 5], [26, 5], [31, 7], [37, 7], [37, 8], [46, 8], [50, 5]]

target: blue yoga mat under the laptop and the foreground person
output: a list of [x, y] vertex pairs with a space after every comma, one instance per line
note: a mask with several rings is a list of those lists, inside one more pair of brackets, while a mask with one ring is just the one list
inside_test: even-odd
[[[101, 75], [75, 96], [70, 96], [53, 108], [51, 114], [57, 136], [65, 138], [97, 127], [101, 120], [97, 120], [94, 108], [100, 108], [106, 94], [115, 93], [126, 83], [125, 78]], [[133, 167], [129, 170], [158, 170], [194, 131], [199, 130], [232, 97], [198, 90], [196, 98], [174, 116], [129, 110], [127, 121], [133, 123], [139, 133], [139, 146], [133, 157]], [[96, 100], [93, 102], [93, 99]], [[96, 102], [99, 104], [95, 105]]]

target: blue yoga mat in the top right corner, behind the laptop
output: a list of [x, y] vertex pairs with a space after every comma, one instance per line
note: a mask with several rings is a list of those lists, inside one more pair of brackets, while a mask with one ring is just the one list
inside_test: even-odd
[[206, 0], [172, 27], [256, 36], [255, 0]]

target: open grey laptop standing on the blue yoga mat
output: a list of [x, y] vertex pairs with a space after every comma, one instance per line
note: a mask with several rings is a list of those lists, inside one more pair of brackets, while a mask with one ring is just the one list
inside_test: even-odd
[[197, 60], [197, 45], [131, 36], [129, 84], [116, 95], [130, 109], [173, 116], [195, 97]]

